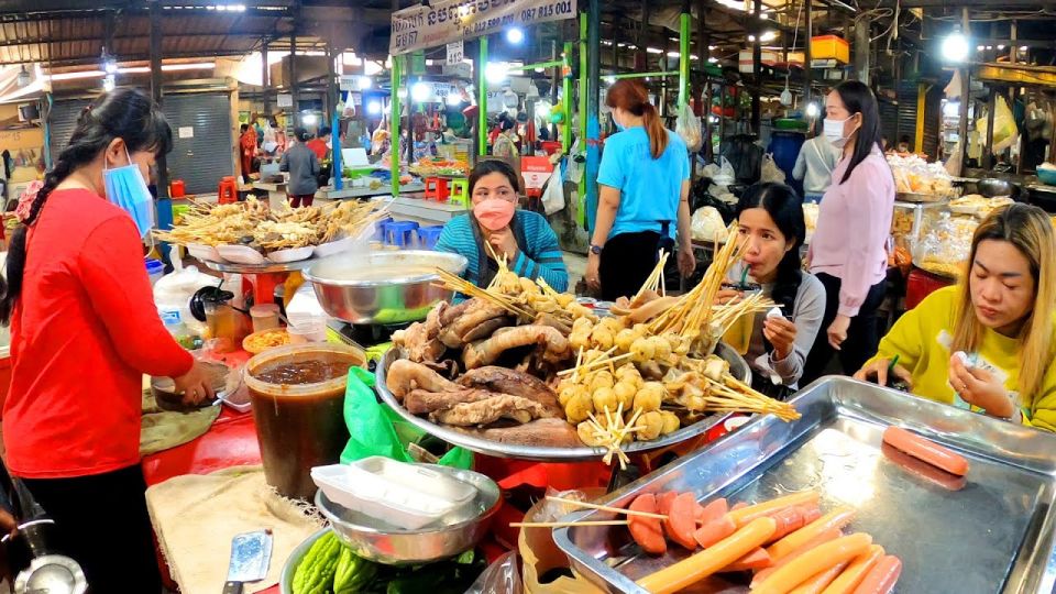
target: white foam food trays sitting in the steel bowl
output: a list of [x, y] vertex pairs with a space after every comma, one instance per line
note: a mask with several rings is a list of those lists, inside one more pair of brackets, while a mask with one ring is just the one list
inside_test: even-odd
[[380, 455], [316, 466], [311, 480], [331, 502], [407, 530], [436, 522], [476, 497], [469, 483]]

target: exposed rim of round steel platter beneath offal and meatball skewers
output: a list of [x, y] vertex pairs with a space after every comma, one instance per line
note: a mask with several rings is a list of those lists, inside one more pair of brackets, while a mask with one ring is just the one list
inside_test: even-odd
[[[719, 343], [715, 350], [715, 353], [729, 362], [729, 371], [735, 377], [746, 383], [751, 381], [751, 371], [748, 369], [748, 363], [745, 362], [745, 360], [737, 354], [736, 351], [724, 343]], [[393, 396], [393, 394], [388, 391], [388, 387], [385, 385], [385, 373], [388, 371], [388, 366], [392, 365], [393, 361], [395, 361], [398, 356], [399, 353], [395, 349], [389, 349], [378, 362], [377, 371], [374, 372], [374, 376], [376, 378], [375, 387], [377, 388], [377, 393], [382, 396], [382, 400], [391, 406], [397, 415], [406, 419], [411, 425], [415, 425], [419, 429], [431, 433], [447, 441], [448, 443], [461, 446], [466, 450], [486, 455], [494, 455], [497, 458], [537, 460], [542, 462], [601, 460], [605, 455], [604, 448], [588, 448], [586, 446], [581, 448], [544, 448], [539, 446], [499, 443], [497, 441], [463, 433], [449, 427], [436, 425], [424, 417], [416, 417], [415, 415], [408, 413], [407, 409], [396, 400], [396, 397]], [[727, 417], [728, 415], [713, 415], [653, 441], [636, 441], [625, 448], [624, 451], [627, 453], [648, 452], [660, 448], [674, 446], [675, 443], [681, 443], [688, 439], [704, 433]]]

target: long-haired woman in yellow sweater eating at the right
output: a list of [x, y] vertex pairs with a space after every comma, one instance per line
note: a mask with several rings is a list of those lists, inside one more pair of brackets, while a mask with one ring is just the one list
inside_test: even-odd
[[1056, 431], [1056, 238], [1040, 208], [990, 215], [971, 241], [966, 278], [895, 322], [855, 374], [913, 394]]

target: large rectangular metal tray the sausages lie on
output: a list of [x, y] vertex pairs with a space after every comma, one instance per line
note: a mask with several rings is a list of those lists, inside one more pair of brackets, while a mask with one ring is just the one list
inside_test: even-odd
[[[854, 506], [849, 530], [872, 535], [902, 559], [899, 594], [1053, 592], [1056, 436], [847, 377], [823, 377], [792, 402], [801, 419], [757, 416], [601, 503], [626, 506], [640, 493], [670, 490], [758, 503], [814, 488], [823, 510]], [[965, 455], [964, 481], [930, 480], [919, 473], [923, 463], [908, 466], [904, 454], [899, 461], [900, 452], [881, 447], [889, 425]], [[587, 510], [565, 519], [612, 516]], [[645, 592], [635, 580], [689, 554], [673, 546], [650, 557], [624, 526], [559, 528], [553, 537], [573, 569], [605, 592]], [[722, 576], [701, 588], [747, 591]]]

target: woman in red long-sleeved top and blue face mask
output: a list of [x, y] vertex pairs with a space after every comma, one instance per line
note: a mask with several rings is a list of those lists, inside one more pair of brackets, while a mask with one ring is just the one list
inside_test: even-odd
[[187, 402], [212, 396], [157, 316], [136, 222], [116, 206], [128, 196], [105, 190], [108, 169], [134, 165], [122, 173], [146, 178], [170, 148], [146, 95], [100, 97], [28, 205], [0, 283], [0, 321], [11, 326], [8, 468], [55, 520], [94, 593], [161, 591], [139, 454], [143, 375], [175, 378]]

